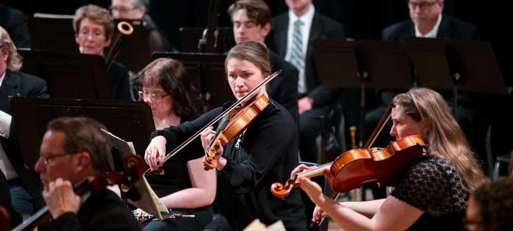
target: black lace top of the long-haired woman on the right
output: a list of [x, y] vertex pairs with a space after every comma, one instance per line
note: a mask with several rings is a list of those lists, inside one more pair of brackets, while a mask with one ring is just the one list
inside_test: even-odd
[[391, 196], [424, 211], [407, 230], [458, 230], [468, 203], [456, 167], [438, 157], [411, 166]]

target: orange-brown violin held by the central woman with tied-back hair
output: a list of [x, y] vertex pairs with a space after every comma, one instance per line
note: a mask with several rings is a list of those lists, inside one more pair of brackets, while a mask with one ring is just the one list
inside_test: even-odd
[[[228, 113], [229, 121], [222, 121], [218, 126], [218, 131], [215, 133], [214, 139], [210, 141], [207, 146], [207, 156], [205, 157], [205, 164], [210, 168], [215, 168], [218, 165], [215, 159], [219, 155], [219, 145], [216, 144], [221, 141], [221, 146], [225, 146], [236, 137], [240, 136], [255, 118], [269, 105], [269, 99], [262, 94], [261, 97], [249, 103], [245, 107], [235, 108], [235, 111]], [[205, 170], [208, 170], [207, 168]]]

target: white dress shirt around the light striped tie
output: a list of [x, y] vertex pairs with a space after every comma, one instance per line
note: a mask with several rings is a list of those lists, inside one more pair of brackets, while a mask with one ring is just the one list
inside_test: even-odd
[[290, 62], [290, 53], [292, 52], [292, 38], [294, 34], [294, 23], [300, 20], [303, 25], [301, 26], [301, 35], [303, 36], [303, 70], [299, 72], [299, 81], [298, 81], [298, 93], [306, 93], [308, 91], [306, 87], [306, 78], [305, 78], [305, 67], [304, 64], [306, 62], [306, 50], [308, 49], [308, 42], [310, 38], [310, 28], [312, 26], [313, 14], [315, 13], [315, 8], [313, 5], [310, 6], [310, 9], [303, 14], [301, 17], [292, 12], [289, 9], [289, 25], [288, 25], [288, 33], [287, 33], [287, 52], [285, 53], [285, 60]]

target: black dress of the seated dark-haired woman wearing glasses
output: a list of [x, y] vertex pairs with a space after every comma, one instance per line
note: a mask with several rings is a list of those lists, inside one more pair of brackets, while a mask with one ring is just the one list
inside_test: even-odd
[[[198, 119], [197, 114], [193, 114], [189, 117], [182, 117], [180, 123], [183, 124], [186, 121], [191, 122], [195, 119]], [[186, 149], [187, 150], [187, 149]], [[169, 150], [171, 151], [171, 150]], [[189, 151], [194, 151], [189, 149]], [[196, 149], [196, 152], [199, 152], [199, 157], [202, 157], [204, 151], [202, 148]], [[177, 153], [178, 156], [181, 155], [182, 152]], [[187, 152], [183, 152], [187, 153]], [[189, 152], [190, 153], [190, 152]], [[184, 154], [186, 155], [186, 154]], [[198, 157], [198, 158], [199, 158]], [[173, 194], [174, 192], [191, 188], [192, 183], [189, 176], [189, 170], [187, 168], [187, 162], [172, 162], [166, 161], [162, 166], [164, 169], [164, 175], [146, 175], [146, 180], [148, 181], [151, 189], [155, 192], [157, 197], [162, 198], [167, 195]], [[213, 209], [212, 205], [203, 206], [200, 208], [194, 209], [172, 209], [171, 213], [181, 213], [183, 215], [194, 215], [194, 218], [185, 218], [185, 219], [168, 219], [164, 221], [153, 220], [146, 225], [144, 230], [203, 230], [207, 224], [210, 224], [213, 217]]]

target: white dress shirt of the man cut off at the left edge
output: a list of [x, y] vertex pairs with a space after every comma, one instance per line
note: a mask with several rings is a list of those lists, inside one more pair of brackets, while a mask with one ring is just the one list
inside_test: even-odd
[[[0, 87], [2, 87], [4, 77], [5, 72], [2, 77], [0, 77]], [[9, 139], [9, 135], [11, 133], [11, 119], [12, 118], [10, 114], [0, 111], [0, 136], [4, 137], [5, 139]], [[0, 145], [0, 170], [2, 170], [7, 180], [18, 178], [18, 175], [12, 167], [9, 158], [7, 158], [4, 147], [2, 147], [2, 145]]]

